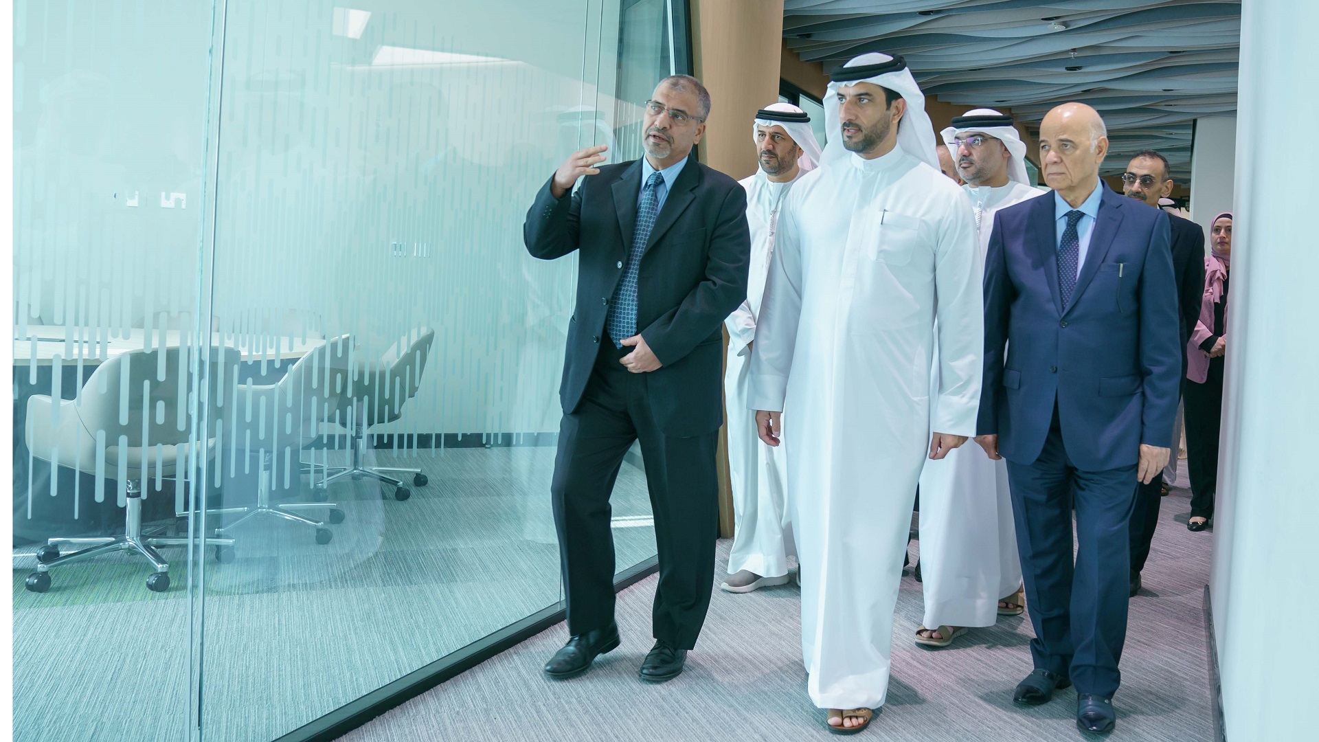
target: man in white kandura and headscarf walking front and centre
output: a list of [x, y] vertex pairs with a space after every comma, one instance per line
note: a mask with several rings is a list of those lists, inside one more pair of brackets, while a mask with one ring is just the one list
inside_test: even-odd
[[971, 203], [939, 172], [925, 96], [901, 57], [835, 69], [824, 106], [836, 136], [780, 214], [751, 404], [769, 445], [790, 411], [807, 692], [830, 709], [830, 730], [849, 734], [888, 692], [925, 457], [975, 432], [981, 260]]

